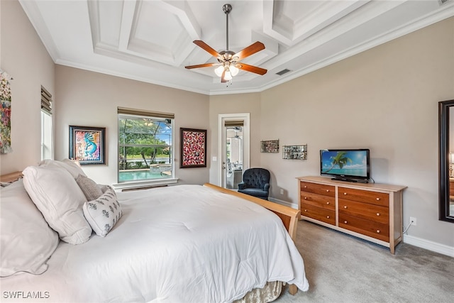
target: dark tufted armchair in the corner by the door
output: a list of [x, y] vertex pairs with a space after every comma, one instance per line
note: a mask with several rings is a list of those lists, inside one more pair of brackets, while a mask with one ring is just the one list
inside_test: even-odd
[[238, 192], [267, 200], [270, 193], [270, 172], [265, 168], [245, 170], [243, 182], [238, 184]]

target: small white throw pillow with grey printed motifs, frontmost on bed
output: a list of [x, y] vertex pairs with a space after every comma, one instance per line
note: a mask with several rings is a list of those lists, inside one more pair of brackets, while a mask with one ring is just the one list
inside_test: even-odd
[[114, 189], [109, 187], [98, 199], [84, 203], [84, 215], [96, 235], [105, 237], [123, 215]]

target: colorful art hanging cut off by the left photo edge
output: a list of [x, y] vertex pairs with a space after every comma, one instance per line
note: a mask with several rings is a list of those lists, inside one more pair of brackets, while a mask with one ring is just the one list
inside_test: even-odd
[[11, 76], [0, 70], [0, 153], [11, 153]]

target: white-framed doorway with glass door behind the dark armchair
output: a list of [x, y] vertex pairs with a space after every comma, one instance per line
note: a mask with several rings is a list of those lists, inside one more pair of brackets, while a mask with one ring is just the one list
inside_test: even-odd
[[226, 189], [238, 189], [249, 168], [249, 113], [219, 115], [219, 180]]

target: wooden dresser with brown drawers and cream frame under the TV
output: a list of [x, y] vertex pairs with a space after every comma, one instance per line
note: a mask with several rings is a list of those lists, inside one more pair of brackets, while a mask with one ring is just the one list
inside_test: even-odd
[[402, 192], [391, 184], [298, 177], [301, 218], [394, 248], [402, 241]]

